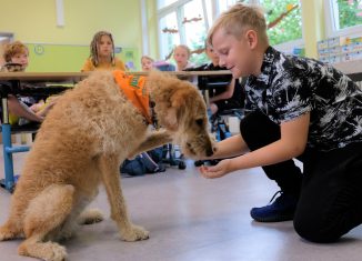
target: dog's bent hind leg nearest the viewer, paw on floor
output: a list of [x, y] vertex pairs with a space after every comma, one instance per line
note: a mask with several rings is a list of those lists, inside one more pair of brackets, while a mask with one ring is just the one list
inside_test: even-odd
[[73, 185], [53, 184], [30, 202], [24, 217], [27, 239], [19, 245], [19, 254], [51, 261], [66, 259], [64, 247], [46, 240], [59, 230], [71, 212], [73, 193]]

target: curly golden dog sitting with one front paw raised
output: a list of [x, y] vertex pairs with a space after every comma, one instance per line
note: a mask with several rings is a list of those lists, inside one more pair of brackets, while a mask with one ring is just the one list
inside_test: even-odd
[[99, 211], [84, 210], [101, 182], [121, 239], [149, 238], [127, 213], [121, 162], [171, 141], [191, 158], [211, 155], [215, 148], [204, 101], [192, 84], [153, 72], [145, 87], [163, 130], [149, 130], [112, 72], [94, 72], [58, 99], [27, 157], [0, 240], [24, 238], [19, 254], [64, 260], [67, 251], [59, 241], [70, 238], [77, 224], [102, 220]]

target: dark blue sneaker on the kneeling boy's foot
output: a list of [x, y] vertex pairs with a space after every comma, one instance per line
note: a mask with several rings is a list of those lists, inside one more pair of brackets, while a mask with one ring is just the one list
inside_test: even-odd
[[[280, 194], [276, 199], [275, 197]], [[275, 199], [274, 202], [272, 202]], [[272, 203], [271, 203], [272, 202]], [[298, 203], [294, 195], [278, 191], [269, 204], [261, 208], [252, 208], [250, 215], [259, 222], [281, 222], [293, 220]]]

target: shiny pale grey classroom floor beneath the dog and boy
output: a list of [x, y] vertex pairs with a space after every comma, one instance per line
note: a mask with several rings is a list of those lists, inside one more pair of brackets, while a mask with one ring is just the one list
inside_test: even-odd
[[[27, 153], [14, 154], [19, 173]], [[2, 168], [2, 147], [0, 154]], [[0, 170], [0, 178], [3, 170]], [[132, 221], [150, 231], [150, 239], [139, 242], [119, 240], [117, 227], [109, 219], [103, 189], [92, 203], [105, 213], [105, 220], [84, 225], [64, 244], [68, 260], [129, 261], [360, 261], [362, 225], [340, 242], [316, 244], [302, 240], [292, 222], [258, 223], [250, 208], [263, 205], [278, 190], [261, 169], [239, 171], [219, 180], [201, 178], [192, 162], [187, 170], [140, 178], [122, 178]], [[0, 189], [0, 223], [8, 215], [10, 194]], [[1, 261], [33, 260], [19, 257], [19, 240], [0, 242]]]

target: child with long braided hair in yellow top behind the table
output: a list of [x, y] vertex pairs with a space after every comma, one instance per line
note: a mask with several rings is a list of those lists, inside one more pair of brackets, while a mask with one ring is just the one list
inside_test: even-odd
[[114, 41], [110, 32], [99, 31], [94, 34], [90, 57], [81, 69], [83, 72], [95, 70], [127, 70], [123, 61], [114, 56]]

